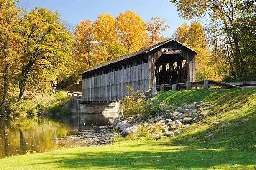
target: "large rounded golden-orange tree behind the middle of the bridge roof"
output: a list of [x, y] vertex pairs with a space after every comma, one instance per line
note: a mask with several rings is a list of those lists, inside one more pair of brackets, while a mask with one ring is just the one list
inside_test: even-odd
[[135, 52], [148, 46], [147, 25], [141, 17], [131, 10], [120, 13], [115, 19], [118, 41], [129, 52]]

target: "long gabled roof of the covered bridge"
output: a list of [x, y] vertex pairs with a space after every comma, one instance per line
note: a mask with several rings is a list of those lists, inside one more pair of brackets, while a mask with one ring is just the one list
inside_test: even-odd
[[134, 56], [138, 56], [138, 55], [141, 55], [141, 54], [143, 54], [143, 53], [148, 53], [148, 52], [154, 50], [155, 48], [158, 48], [159, 46], [162, 46], [162, 45], [164, 45], [164, 44], [166, 44], [166, 43], [169, 43], [170, 41], [176, 41], [177, 43], [181, 44], [182, 46], [187, 47], [189, 50], [194, 51], [194, 52], [197, 54], [197, 51], [193, 50], [192, 48], [189, 48], [188, 46], [186, 46], [186, 45], [180, 43], [179, 41], [174, 40], [174, 39], [169, 39], [169, 40], [163, 41], [163, 42], [161, 42], [161, 43], [155, 44], [155, 45], [153, 45], [153, 46], [150, 46], [150, 47], [144, 48], [144, 49], [142, 49], [142, 50], [136, 51], [136, 52], [134, 52], [134, 53], [131, 53], [131, 54], [122, 56], [122, 57], [120, 57], [120, 58], [116, 58], [116, 59], [111, 60], [111, 61], [108, 61], [108, 62], [106, 62], [106, 63], [99, 64], [99, 65], [97, 65], [97, 66], [95, 66], [95, 67], [92, 67], [91, 69], [88, 69], [87, 71], [82, 72], [81, 74], [88, 73], [88, 72], [90, 72], [90, 71], [94, 71], [94, 70], [97, 70], [97, 69], [101, 69], [101, 68], [106, 67], [106, 66], [109, 66], [109, 65], [111, 65], [111, 64], [113, 64], [113, 63], [118, 63], [119, 61], [124, 61], [124, 60], [126, 60], [126, 59], [128, 59], [128, 58], [132, 58], [132, 57], [134, 57]]

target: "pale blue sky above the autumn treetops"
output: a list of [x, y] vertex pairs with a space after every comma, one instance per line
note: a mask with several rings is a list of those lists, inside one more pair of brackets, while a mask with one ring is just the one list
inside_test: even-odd
[[28, 3], [30, 11], [36, 5], [59, 12], [61, 18], [77, 25], [80, 20], [97, 20], [97, 15], [109, 13], [114, 17], [125, 10], [132, 10], [141, 16], [144, 22], [151, 17], [165, 18], [170, 26], [164, 33], [169, 36], [182, 23], [189, 21], [179, 18], [177, 8], [169, 0], [20, 0], [21, 4]]

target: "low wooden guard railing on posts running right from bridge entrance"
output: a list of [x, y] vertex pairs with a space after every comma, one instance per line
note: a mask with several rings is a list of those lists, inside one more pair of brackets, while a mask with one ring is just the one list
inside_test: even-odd
[[197, 87], [203, 87], [204, 89], [209, 89], [209, 87], [211, 86], [221, 86], [223, 87], [223, 89], [228, 89], [228, 88], [241, 89], [241, 87], [239, 86], [223, 83], [220, 81], [214, 81], [214, 80], [195, 81], [195, 82], [176, 83], [176, 84], [161, 84], [161, 85], [156, 85], [156, 88], [157, 89], [160, 88], [160, 91], [165, 91], [165, 89], [176, 91], [180, 89], [190, 90], [192, 88], [197, 88]]

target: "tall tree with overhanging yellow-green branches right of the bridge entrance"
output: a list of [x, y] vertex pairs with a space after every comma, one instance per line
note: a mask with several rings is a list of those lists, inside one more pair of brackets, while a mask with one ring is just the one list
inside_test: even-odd
[[235, 63], [235, 71], [238, 75], [236, 78], [249, 79], [247, 67], [250, 65], [249, 60], [241, 55], [241, 34], [236, 28], [241, 24], [239, 18], [251, 15], [255, 11], [255, 0], [171, 0], [171, 2], [177, 6], [180, 17], [195, 19], [209, 16], [212, 24], [209, 24], [208, 29], [214, 30], [213, 34], [217, 32], [218, 35], [223, 36], [233, 58], [232, 62]]

